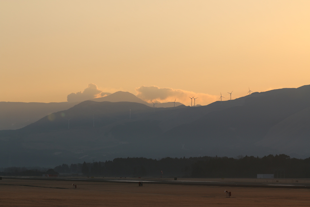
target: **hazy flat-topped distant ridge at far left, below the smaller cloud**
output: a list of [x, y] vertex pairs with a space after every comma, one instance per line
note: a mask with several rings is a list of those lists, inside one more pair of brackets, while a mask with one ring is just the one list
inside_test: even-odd
[[78, 103], [0, 102], [0, 130], [25, 127], [48, 114], [69, 109]]

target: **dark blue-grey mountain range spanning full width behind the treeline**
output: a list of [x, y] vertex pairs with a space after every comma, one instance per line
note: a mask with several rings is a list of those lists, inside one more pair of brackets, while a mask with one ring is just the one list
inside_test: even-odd
[[0, 131], [0, 167], [141, 156], [305, 158], [310, 156], [308, 94], [310, 85], [305, 85], [175, 108], [84, 101], [21, 129]]

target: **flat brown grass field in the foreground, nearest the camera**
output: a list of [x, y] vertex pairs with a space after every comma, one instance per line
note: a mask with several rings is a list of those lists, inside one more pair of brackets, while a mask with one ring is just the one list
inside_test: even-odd
[[[310, 189], [0, 180], [0, 206], [310, 206]], [[232, 196], [226, 198], [225, 190]]]

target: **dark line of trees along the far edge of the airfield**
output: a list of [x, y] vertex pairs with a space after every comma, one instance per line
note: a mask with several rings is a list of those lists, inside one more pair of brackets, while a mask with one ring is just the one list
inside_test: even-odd
[[[17, 175], [5, 168], [0, 175]], [[51, 171], [52, 169], [50, 169]], [[60, 174], [97, 177], [240, 177], [255, 178], [257, 174], [274, 174], [275, 178], [310, 178], [310, 158], [296, 159], [285, 154], [253, 156], [190, 157], [190, 158], [116, 158], [113, 161], [62, 164], [53, 171]], [[162, 172], [163, 174], [162, 174]], [[28, 172], [28, 174], [27, 174]], [[31, 176], [28, 171], [18, 175]], [[42, 176], [35, 171], [33, 176]], [[53, 173], [46, 173], [53, 174]]]

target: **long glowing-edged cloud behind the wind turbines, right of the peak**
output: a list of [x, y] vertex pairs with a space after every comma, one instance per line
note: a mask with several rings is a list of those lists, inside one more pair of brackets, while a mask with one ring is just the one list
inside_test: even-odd
[[[193, 91], [186, 91], [181, 89], [172, 89], [172, 88], [159, 88], [158, 86], [140, 86], [135, 89], [137, 94], [136, 96], [144, 101], [159, 101], [159, 102], [169, 102], [174, 101], [176, 98], [177, 102], [181, 102], [185, 105], [191, 105], [191, 99], [188, 97], [198, 97], [196, 99], [196, 104], [207, 105], [217, 100], [217, 96], [204, 94], [204, 93], [195, 93]], [[194, 104], [194, 103], [193, 103]]]

